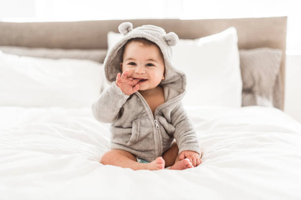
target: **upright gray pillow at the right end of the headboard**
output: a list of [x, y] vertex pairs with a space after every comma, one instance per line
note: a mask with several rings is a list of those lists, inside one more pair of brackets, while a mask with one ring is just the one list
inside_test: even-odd
[[279, 108], [282, 50], [257, 48], [239, 52], [242, 78], [241, 106], [261, 105]]

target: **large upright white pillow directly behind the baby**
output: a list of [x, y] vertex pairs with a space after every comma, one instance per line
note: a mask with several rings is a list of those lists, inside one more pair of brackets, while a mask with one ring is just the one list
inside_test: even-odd
[[[108, 32], [109, 49], [122, 35]], [[172, 47], [173, 64], [187, 76], [184, 105], [241, 107], [241, 69], [235, 27]]]

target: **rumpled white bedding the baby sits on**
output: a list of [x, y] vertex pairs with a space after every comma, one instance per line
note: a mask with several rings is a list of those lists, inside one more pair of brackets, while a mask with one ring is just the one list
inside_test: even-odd
[[301, 199], [300, 123], [269, 107], [185, 108], [203, 163], [133, 171], [98, 162], [110, 125], [90, 108], [0, 107], [0, 199]]

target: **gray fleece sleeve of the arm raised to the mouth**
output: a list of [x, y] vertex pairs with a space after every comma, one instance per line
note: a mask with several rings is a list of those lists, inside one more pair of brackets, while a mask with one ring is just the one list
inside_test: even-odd
[[92, 104], [92, 113], [96, 120], [103, 123], [112, 123], [119, 117], [120, 108], [129, 98], [113, 81], [106, 88], [99, 99]]

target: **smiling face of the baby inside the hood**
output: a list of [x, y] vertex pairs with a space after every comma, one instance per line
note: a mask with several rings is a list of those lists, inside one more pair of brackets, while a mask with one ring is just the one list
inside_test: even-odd
[[127, 43], [120, 68], [122, 72], [128, 72], [128, 77], [147, 79], [138, 82], [139, 90], [155, 88], [165, 78], [163, 55], [155, 45], [146, 46], [137, 41]]

